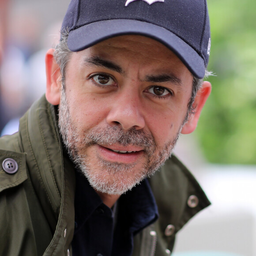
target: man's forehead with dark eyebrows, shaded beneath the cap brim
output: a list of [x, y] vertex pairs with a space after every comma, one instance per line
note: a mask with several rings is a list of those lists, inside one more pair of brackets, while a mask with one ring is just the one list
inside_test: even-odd
[[[102, 67], [124, 77], [138, 68], [138, 79], [148, 82], [172, 81], [180, 85], [184, 74], [192, 74], [182, 61], [165, 45], [140, 35], [124, 35], [101, 41], [74, 53], [82, 67]], [[132, 69], [131, 69], [132, 68]]]

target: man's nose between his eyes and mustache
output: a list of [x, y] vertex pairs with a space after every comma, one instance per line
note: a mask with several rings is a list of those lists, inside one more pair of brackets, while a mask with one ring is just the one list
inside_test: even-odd
[[119, 124], [124, 131], [131, 128], [144, 128], [145, 120], [142, 113], [142, 102], [138, 92], [122, 91], [112, 103], [106, 118], [110, 126]]

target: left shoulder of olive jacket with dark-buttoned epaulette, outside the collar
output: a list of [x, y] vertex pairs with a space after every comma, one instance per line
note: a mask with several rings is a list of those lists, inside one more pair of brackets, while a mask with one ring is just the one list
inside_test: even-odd
[[1, 137], [0, 255], [42, 255], [52, 239], [30, 176], [20, 133]]

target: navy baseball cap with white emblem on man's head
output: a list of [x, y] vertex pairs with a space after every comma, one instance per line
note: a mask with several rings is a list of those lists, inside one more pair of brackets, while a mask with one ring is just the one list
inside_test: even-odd
[[73, 52], [120, 35], [153, 38], [200, 79], [210, 55], [206, 0], [72, 0], [61, 30]]

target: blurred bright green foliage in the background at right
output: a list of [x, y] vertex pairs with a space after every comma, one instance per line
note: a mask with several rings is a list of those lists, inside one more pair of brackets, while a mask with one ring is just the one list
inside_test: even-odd
[[256, 0], [208, 0], [216, 76], [196, 131], [209, 162], [256, 164]]

